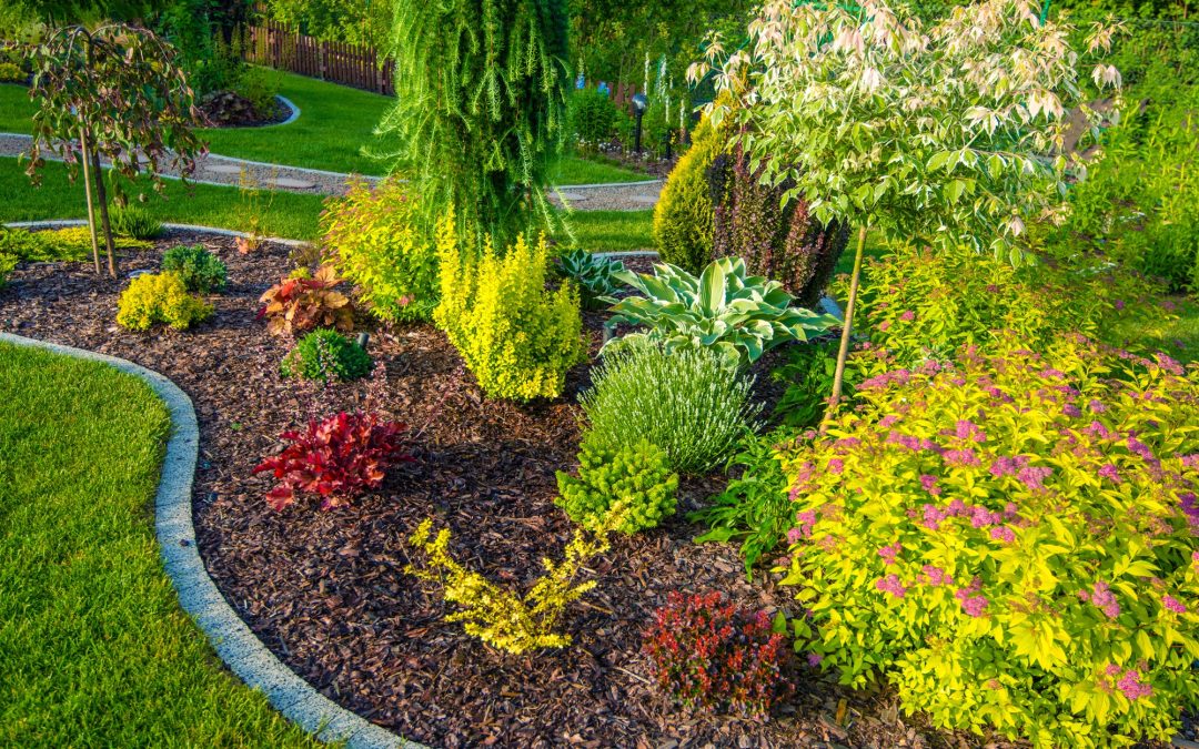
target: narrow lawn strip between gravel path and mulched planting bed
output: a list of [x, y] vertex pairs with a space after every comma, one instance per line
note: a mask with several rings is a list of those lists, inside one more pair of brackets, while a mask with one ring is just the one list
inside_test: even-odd
[[[0, 223], [86, 218], [83, 185], [71, 185], [61, 164], [47, 164], [43, 175], [42, 186], [31, 187], [16, 158], [0, 158], [0, 195], [5, 197], [0, 200]], [[146, 197], [145, 207], [162, 222], [247, 228], [248, 207], [235, 187], [192, 185], [185, 188], [167, 180], [165, 199], [152, 192]], [[264, 191], [259, 197], [263, 230], [267, 236], [313, 240], [321, 206], [319, 195]], [[611, 252], [652, 248], [652, 219], [653, 211], [579, 211], [570, 222], [580, 247]]]

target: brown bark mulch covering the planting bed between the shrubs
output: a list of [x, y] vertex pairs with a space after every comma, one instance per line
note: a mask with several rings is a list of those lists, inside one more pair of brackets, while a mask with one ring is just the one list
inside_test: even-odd
[[[444, 621], [435, 594], [403, 574], [404, 538], [424, 518], [453, 532], [472, 569], [528, 585], [543, 556], [571, 534], [554, 507], [554, 472], [571, 470], [579, 440], [578, 367], [561, 399], [528, 406], [480, 393], [445, 337], [428, 326], [373, 330], [369, 350], [387, 367], [387, 409], [410, 424], [416, 461], [384, 489], [319, 512], [267, 507], [269, 479], [251, 470], [305, 418], [312, 393], [283, 380], [288, 342], [255, 319], [259, 295], [290, 268], [288, 250], [239, 255], [230, 240], [176, 234], [122, 259], [126, 272], [156, 268], [173, 244], [203, 243], [229, 265], [217, 313], [186, 333], [119, 328], [125, 280], [86, 265], [19, 267], [0, 291], [0, 330], [121, 356], [174, 380], [195, 404], [200, 461], [194, 514], [200, 551], [233, 606], [264, 642], [341, 705], [436, 747], [945, 747], [957, 736], [897, 714], [892, 695], [850, 693], [797, 658], [796, 696], [769, 721], [691, 715], [656, 694], [641, 630], [670, 591], [719, 590], [767, 610], [791, 604], [770, 580], [751, 585], [736, 549], [697, 545], [683, 515], [717, 488], [691, 479], [664, 527], [616, 537], [591, 570], [598, 587], [565, 629], [574, 645], [511, 657]], [[588, 316], [592, 348], [602, 318]], [[333, 389], [351, 407], [366, 385]], [[838, 715], [840, 720], [838, 720]], [[974, 742], [971, 742], [974, 743]]]

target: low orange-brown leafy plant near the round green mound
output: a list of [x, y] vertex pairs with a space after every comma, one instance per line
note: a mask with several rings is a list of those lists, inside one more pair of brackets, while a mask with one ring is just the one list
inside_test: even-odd
[[276, 334], [295, 334], [318, 327], [354, 330], [350, 300], [335, 286], [342, 283], [333, 266], [325, 265], [312, 278], [284, 278], [267, 289], [259, 301], [267, 330]]

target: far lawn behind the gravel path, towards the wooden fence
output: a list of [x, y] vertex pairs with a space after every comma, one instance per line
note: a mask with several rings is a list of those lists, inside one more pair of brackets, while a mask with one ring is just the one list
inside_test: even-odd
[[[279, 93], [300, 108], [300, 119], [271, 127], [200, 131], [213, 153], [326, 171], [386, 174], [386, 164], [366, 156], [362, 149], [380, 145], [373, 133], [391, 104], [388, 97], [291, 73], [271, 74], [278, 79]], [[24, 86], [0, 84], [0, 132], [30, 132], [32, 114], [34, 104]], [[554, 171], [559, 185], [646, 179], [611, 163], [573, 156], [564, 158]]]

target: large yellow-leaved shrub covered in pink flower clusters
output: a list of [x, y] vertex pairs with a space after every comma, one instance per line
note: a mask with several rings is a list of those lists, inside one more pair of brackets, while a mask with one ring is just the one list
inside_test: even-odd
[[781, 457], [797, 646], [936, 726], [1168, 742], [1199, 697], [1199, 370], [1012, 337], [857, 403]]

